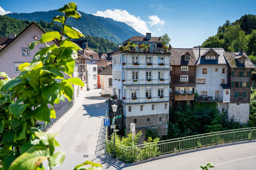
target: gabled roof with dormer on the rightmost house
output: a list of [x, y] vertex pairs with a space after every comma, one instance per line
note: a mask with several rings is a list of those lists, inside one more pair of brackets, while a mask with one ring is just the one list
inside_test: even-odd
[[[246, 55], [245, 52], [243, 52], [243, 55], [239, 55], [239, 53], [234, 53], [234, 52], [226, 52], [224, 53], [225, 59], [227, 60], [228, 64], [232, 68], [255, 68], [252, 61], [249, 59], [249, 57]], [[245, 58], [245, 63], [240, 64], [239, 63], [239, 58], [244, 57]]]

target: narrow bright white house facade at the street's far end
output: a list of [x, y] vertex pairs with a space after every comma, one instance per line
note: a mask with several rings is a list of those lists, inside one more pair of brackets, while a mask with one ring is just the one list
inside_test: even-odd
[[[93, 71], [93, 67], [96, 67], [96, 71]], [[97, 89], [97, 64], [86, 64], [86, 68], [88, 89]], [[93, 75], [96, 75], [96, 79], [93, 79]]]

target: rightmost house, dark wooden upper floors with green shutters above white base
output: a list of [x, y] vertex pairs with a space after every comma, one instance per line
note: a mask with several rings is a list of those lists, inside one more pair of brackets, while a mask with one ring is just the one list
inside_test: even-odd
[[228, 81], [230, 82], [230, 103], [228, 117], [247, 123], [250, 114], [251, 74], [253, 66], [243, 50], [224, 53], [228, 62]]

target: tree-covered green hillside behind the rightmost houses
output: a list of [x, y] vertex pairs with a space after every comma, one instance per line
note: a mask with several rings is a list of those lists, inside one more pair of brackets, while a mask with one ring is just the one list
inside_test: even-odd
[[222, 47], [227, 52], [238, 52], [243, 49], [250, 59], [256, 56], [256, 15], [243, 15], [235, 22], [226, 21], [218, 27], [215, 36], [207, 38], [202, 47]]

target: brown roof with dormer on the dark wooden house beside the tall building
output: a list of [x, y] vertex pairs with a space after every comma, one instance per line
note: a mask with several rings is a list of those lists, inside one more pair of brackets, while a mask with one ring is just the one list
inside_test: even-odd
[[[189, 55], [189, 61], [185, 60], [185, 55]], [[172, 48], [170, 65], [172, 66], [195, 66], [196, 58], [192, 48]]]

